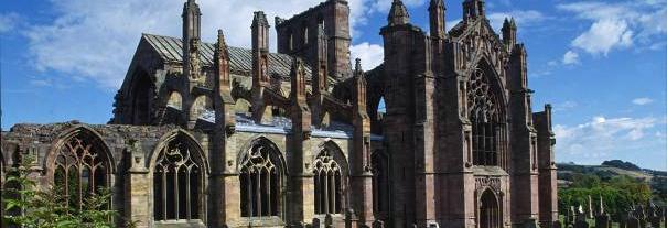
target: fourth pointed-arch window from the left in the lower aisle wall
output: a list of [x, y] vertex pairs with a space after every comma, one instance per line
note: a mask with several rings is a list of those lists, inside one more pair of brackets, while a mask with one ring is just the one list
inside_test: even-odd
[[313, 162], [315, 182], [315, 214], [343, 213], [343, 171], [329, 149], [322, 150]]

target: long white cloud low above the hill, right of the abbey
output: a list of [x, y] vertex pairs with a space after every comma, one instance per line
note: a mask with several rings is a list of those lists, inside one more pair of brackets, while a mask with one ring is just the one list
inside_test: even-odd
[[578, 126], [553, 127], [557, 151], [569, 155], [602, 156], [643, 146], [646, 131], [658, 122], [656, 118], [611, 118], [599, 116]]

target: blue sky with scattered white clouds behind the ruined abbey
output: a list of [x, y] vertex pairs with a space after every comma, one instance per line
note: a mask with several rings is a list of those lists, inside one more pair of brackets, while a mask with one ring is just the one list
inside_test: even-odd
[[[391, 0], [348, 0], [353, 57], [381, 62]], [[289, 18], [319, 0], [200, 0], [203, 36], [249, 46], [251, 12]], [[428, 30], [428, 0], [404, 0]], [[448, 28], [461, 0], [447, 1]], [[518, 23], [534, 110], [553, 105], [558, 162], [622, 159], [667, 170], [667, 0], [487, 1], [496, 29]], [[8, 0], [0, 4], [2, 129], [77, 119], [105, 123], [142, 32], [180, 36], [180, 0]], [[275, 39], [275, 31], [271, 31]], [[275, 41], [275, 40], [272, 40]], [[273, 46], [275, 42], [272, 42]]]

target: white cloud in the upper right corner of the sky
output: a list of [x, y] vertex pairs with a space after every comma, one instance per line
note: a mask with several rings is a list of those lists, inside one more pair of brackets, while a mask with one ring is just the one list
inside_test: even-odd
[[592, 55], [607, 55], [636, 44], [653, 46], [667, 34], [667, 1], [635, 0], [623, 3], [574, 2], [558, 9], [592, 21], [571, 45]]

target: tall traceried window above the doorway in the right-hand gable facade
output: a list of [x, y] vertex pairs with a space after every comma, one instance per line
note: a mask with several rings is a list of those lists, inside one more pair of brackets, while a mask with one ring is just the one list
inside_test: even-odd
[[498, 165], [499, 107], [487, 76], [475, 70], [467, 82], [467, 107], [473, 127], [473, 162]]

